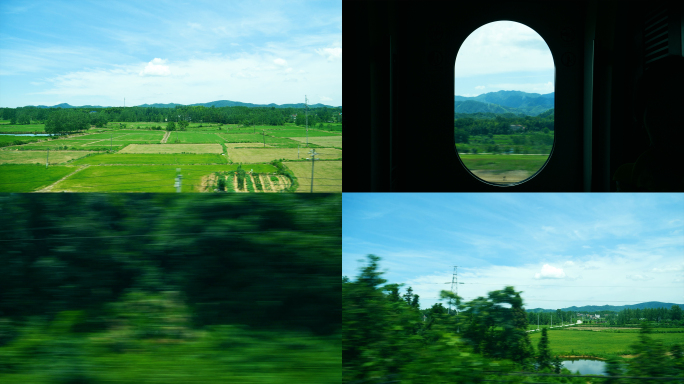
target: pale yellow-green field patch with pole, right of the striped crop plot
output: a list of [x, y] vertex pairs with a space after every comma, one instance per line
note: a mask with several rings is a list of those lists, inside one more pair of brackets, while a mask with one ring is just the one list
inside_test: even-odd
[[[317, 150], [318, 151], [318, 150]], [[299, 180], [296, 192], [311, 191], [311, 162], [289, 162], [286, 165]], [[314, 193], [342, 192], [342, 162], [317, 161], [314, 164]]]

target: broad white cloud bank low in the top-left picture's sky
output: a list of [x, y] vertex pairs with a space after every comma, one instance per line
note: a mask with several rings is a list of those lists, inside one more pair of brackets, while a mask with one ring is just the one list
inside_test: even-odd
[[[316, 54], [303, 55], [290, 59], [292, 70], [283, 73], [287, 67], [277, 67], [273, 57], [282, 55], [238, 54], [209, 55], [206, 57], [174, 60], [169, 62], [155, 58], [143, 71], [141, 65], [120, 65], [113, 69], [85, 69], [48, 78], [46, 90], [34, 95], [53, 95], [59, 100], [46, 101], [45, 105], [59, 102], [82, 103], [100, 98], [102, 105], [120, 105], [120, 95], [127, 97], [131, 105], [144, 103], [192, 104], [213, 100], [237, 100], [258, 104], [286, 104], [299, 102], [300, 96], [326, 92], [333, 98], [334, 105], [341, 105], [341, 76], [331, 76], [331, 72], [341, 74], [340, 62], [327, 62]], [[275, 68], [282, 71], [274, 71]], [[164, 74], [166, 74], [164, 76]], [[161, 76], [160, 76], [161, 75]], [[269, 92], [264, 93], [264, 89]], [[330, 89], [339, 89], [339, 94]], [[224, 95], [224, 96], [221, 96]], [[49, 99], [48, 99], [49, 100]], [[109, 101], [108, 101], [109, 100]], [[337, 101], [335, 101], [337, 100]], [[79, 105], [79, 104], [74, 104]]]

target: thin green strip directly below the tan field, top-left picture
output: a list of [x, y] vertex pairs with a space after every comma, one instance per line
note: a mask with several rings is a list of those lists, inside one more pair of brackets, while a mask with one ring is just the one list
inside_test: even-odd
[[[1, 155], [0, 155], [1, 156]], [[2, 158], [0, 157], [0, 160]], [[216, 154], [101, 154], [72, 161], [71, 164], [226, 164], [226, 157]]]

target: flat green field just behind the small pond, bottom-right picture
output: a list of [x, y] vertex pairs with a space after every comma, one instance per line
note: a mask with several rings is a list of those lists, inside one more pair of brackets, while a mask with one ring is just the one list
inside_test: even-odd
[[[607, 328], [610, 330], [610, 328]], [[595, 356], [607, 357], [609, 355], [628, 355], [630, 345], [639, 339], [638, 330], [628, 330], [627, 332], [589, 331], [558, 329], [550, 330], [549, 346], [552, 355], [562, 356]], [[530, 340], [532, 345], [537, 347], [541, 338], [541, 332], [531, 332]], [[663, 342], [667, 348], [674, 344], [684, 344], [684, 333], [652, 333], [653, 340]]]

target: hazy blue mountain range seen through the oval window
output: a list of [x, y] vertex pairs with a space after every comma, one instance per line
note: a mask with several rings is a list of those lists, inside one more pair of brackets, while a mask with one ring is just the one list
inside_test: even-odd
[[498, 91], [475, 97], [454, 96], [454, 113], [513, 113], [538, 116], [554, 108], [555, 92], [541, 95], [522, 91]]

